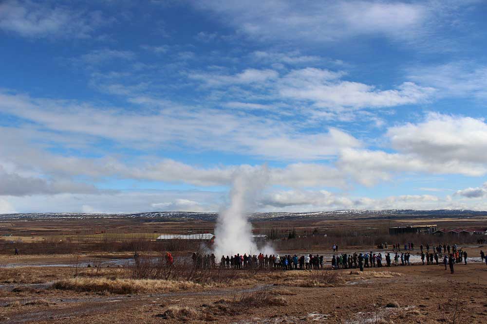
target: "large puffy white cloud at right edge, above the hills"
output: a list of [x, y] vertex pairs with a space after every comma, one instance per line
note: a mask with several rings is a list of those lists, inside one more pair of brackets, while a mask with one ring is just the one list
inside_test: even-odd
[[386, 138], [396, 152], [344, 148], [338, 167], [366, 185], [400, 172], [487, 173], [487, 124], [481, 119], [430, 113], [423, 122], [389, 127]]

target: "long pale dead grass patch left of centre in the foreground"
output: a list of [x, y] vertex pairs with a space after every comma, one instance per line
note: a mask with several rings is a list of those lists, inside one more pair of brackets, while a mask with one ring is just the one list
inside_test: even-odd
[[170, 292], [180, 290], [197, 290], [202, 285], [189, 281], [169, 281], [151, 279], [107, 279], [107, 278], [74, 278], [56, 281], [55, 289], [77, 292], [110, 292], [114, 294], [131, 294], [141, 292]]

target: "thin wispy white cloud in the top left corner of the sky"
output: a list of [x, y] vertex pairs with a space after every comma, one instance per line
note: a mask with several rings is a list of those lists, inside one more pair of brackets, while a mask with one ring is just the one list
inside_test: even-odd
[[[110, 19], [108, 19], [110, 20]], [[7, 0], [0, 3], [0, 29], [24, 37], [89, 38], [107, 22], [100, 13], [74, 11], [50, 1]]]

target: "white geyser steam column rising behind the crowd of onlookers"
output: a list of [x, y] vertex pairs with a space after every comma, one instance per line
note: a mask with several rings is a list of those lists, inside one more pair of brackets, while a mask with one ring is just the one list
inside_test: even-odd
[[269, 247], [257, 251], [247, 216], [256, 207], [256, 198], [265, 188], [268, 178], [265, 166], [248, 167], [236, 173], [230, 191], [230, 206], [219, 214], [215, 228], [213, 252], [216, 255], [273, 253]]

